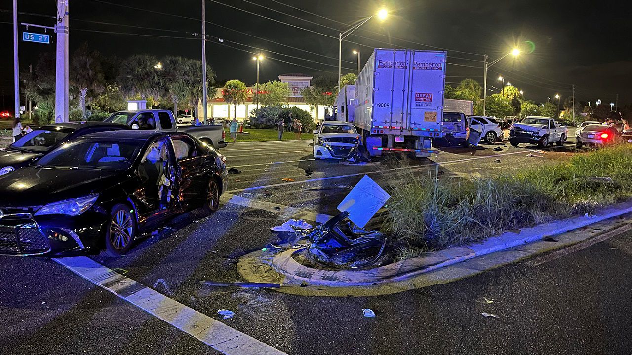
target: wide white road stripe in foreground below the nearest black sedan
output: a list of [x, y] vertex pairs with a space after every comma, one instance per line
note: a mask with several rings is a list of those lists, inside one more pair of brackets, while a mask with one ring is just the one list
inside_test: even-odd
[[283, 355], [260, 340], [193, 310], [85, 256], [54, 259], [93, 284], [227, 355]]

